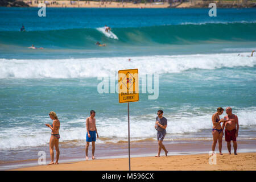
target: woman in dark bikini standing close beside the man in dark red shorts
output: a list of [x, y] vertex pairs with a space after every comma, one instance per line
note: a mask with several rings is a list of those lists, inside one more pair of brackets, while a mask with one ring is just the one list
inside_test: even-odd
[[223, 130], [221, 127], [221, 123], [225, 121], [226, 118], [220, 119], [220, 115], [223, 113], [224, 109], [222, 107], [218, 107], [217, 112], [212, 115], [212, 152], [214, 152], [217, 141], [218, 141], [218, 151], [220, 155], [222, 155], [221, 148], [222, 148], [222, 138], [223, 138]]

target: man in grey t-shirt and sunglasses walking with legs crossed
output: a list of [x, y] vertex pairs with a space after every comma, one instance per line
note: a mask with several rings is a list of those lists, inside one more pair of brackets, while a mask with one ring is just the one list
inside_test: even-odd
[[163, 145], [163, 139], [166, 136], [166, 127], [167, 127], [167, 119], [163, 117], [163, 110], [158, 110], [158, 116], [155, 119], [155, 129], [158, 131], [157, 138], [158, 138], [158, 155], [156, 157], [160, 157], [160, 152], [163, 148], [164, 152], [166, 152], [166, 156], [168, 151], [166, 147]]

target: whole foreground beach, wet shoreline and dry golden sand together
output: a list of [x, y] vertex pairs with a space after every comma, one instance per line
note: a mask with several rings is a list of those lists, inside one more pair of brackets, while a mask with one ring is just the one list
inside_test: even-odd
[[[133, 162], [133, 170], [160, 170], [161, 166], [166, 166], [166, 170], [218, 170], [217, 167], [209, 167], [204, 169], [204, 165], [208, 164], [209, 166], [212, 166], [208, 163], [209, 159], [209, 151], [211, 150], [212, 141], [211, 140], [199, 140], [199, 141], [191, 141], [191, 140], [184, 140], [184, 141], [164, 141], [164, 145], [166, 146], [167, 150], [169, 151], [168, 156], [164, 156], [164, 151], [161, 152], [160, 158], [155, 159], [155, 155], [158, 151], [158, 144], [156, 141], [142, 141], [142, 142], [131, 142], [131, 158], [132, 161], [140, 161], [140, 160], [152, 160], [152, 163], [143, 164], [143, 166], [140, 167], [140, 164], [142, 162]], [[256, 140], [239, 140], [238, 142], [238, 155], [235, 156], [233, 154], [233, 144], [232, 144], [232, 155], [234, 156], [234, 159], [237, 160], [236, 163], [234, 163], [234, 166], [231, 166], [228, 168], [225, 166], [228, 161], [231, 159], [228, 155], [228, 151], [226, 148], [226, 142], [222, 143], [222, 153], [224, 155], [220, 156], [218, 154], [218, 144], [216, 146], [216, 153], [217, 153], [217, 159], [220, 159], [217, 164], [221, 163], [221, 169], [223, 170], [240, 170], [240, 161], [250, 159], [247, 161], [248, 163], [241, 164], [243, 167], [247, 168], [247, 170], [255, 170], [256, 164]], [[85, 145], [84, 146], [67, 146], [67, 144], [64, 146], [64, 144], [60, 144], [60, 160], [59, 160], [59, 166], [53, 165], [55, 167], [48, 167], [48, 166], [39, 166], [38, 165], [38, 151], [45, 151], [46, 152], [46, 164], [50, 162], [49, 159], [49, 149], [48, 146], [44, 146], [42, 148], [33, 148], [30, 151], [30, 158], [28, 160], [23, 161], [16, 161], [16, 162], [5, 162], [1, 163], [0, 167], [1, 170], [8, 170], [8, 169], [19, 169], [23, 170], [25, 167], [26, 170], [93, 170], [93, 168], [89, 167], [94, 165], [91, 164], [92, 162], [95, 162], [95, 164], [101, 166], [101, 168], [95, 169], [95, 170], [106, 170], [104, 167], [105, 165], [108, 167], [111, 163], [111, 166], [108, 167], [108, 170], [127, 170], [126, 164], [127, 158], [128, 158], [128, 143], [127, 142], [121, 142], [121, 143], [106, 143], [106, 144], [97, 144], [96, 143], [96, 151], [95, 156], [97, 160], [92, 161], [92, 153], [91, 153], [91, 146], [89, 147], [89, 160], [85, 161]], [[28, 152], [28, 151], [24, 151]], [[56, 153], [55, 153], [56, 154]], [[184, 160], [182, 162], [181, 159]], [[218, 158], [220, 156], [220, 158]], [[241, 156], [241, 159], [240, 157]], [[251, 158], [251, 156], [254, 156], [254, 158]], [[197, 158], [198, 157], [198, 158]], [[197, 160], [199, 160], [198, 162]], [[191, 160], [190, 160], [191, 159]], [[223, 161], [222, 161], [223, 159]], [[252, 160], [254, 159], [254, 160]], [[158, 161], [164, 160], [164, 163], [161, 162], [158, 163]], [[165, 162], [165, 160], [167, 160]], [[174, 164], [174, 166], [170, 166], [169, 164], [172, 163], [173, 160], [180, 160], [177, 164]], [[148, 161], [148, 162], [150, 162]], [[88, 162], [88, 163], [84, 163]], [[102, 162], [102, 165], [100, 165], [98, 162]], [[115, 164], [115, 162], [118, 162]], [[187, 163], [189, 162], [189, 165]], [[113, 163], [113, 164], [112, 164]], [[183, 164], [184, 163], [184, 164]], [[67, 166], [63, 166], [63, 164], [68, 164]], [[69, 168], [69, 165], [72, 164], [72, 168]], [[73, 164], [79, 164], [77, 167], [73, 166]], [[84, 167], [81, 167], [80, 164]], [[88, 164], [88, 167], [86, 165]], [[224, 165], [225, 164], [225, 165]], [[246, 166], [250, 164], [249, 166]], [[252, 164], [252, 165], [251, 165]], [[95, 167], [97, 167], [97, 165]], [[147, 167], [148, 165], [148, 167]], [[186, 167], [187, 165], [187, 167]], [[223, 166], [224, 165], [224, 166]], [[34, 167], [32, 167], [34, 166]], [[176, 167], [175, 167], [176, 166]], [[216, 165], [214, 165], [216, 166]], [[32, 167], [32, 168], [31, 168]], [[89, 169], [90, 168], [90, 169]], [[246, 169], [243, 169], [246, 170]]]

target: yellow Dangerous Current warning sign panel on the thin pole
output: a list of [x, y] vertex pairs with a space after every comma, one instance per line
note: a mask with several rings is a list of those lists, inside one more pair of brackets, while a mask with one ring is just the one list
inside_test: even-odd
[[119, 103], [139, 101], [138, 69], [118, 71]]

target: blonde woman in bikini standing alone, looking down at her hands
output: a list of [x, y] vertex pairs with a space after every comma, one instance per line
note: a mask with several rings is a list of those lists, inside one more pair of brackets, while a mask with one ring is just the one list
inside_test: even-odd
[[[51, 139], [49, 141], [49, 150], [50, 150], [50, 155], [51, 155], [51, 164], [59, 164], [59, 156], [60, 156], [60, 150], [59, 150], [59, 129], [60, 129], [60, 121], [57, 118], [57, 115], [55, 112], [51, 111], [49, 113], [49, 117], [53, 120], [52, 125], [46, 124], [51, 130], [52, 130], [52, 135]], [[55, 147], [56, 150], [56, 162], [53, 162], [54, 159], [54, 152], [53, 152], [53, 147]]]

